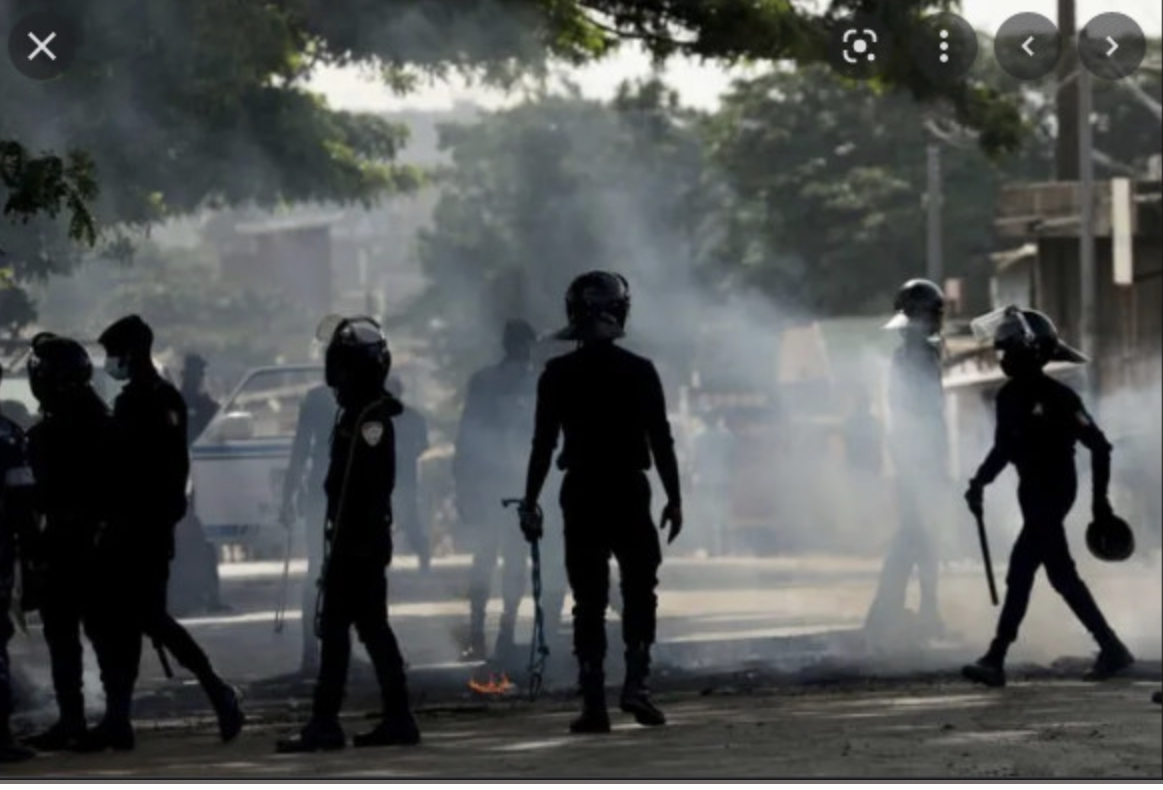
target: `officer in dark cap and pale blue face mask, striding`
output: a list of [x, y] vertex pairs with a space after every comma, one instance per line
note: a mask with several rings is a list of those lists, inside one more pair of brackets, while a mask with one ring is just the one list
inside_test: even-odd
[[206, 653], [166, 606], [174, 527], [187, 507], [186, 404], [154, 366], [154, 332], [140, 316], [115, 321], [98, 342], [107, 355], [106, 372], [126, 382], [113, 405], [114, 507], [102, 536], [102, 550], [119, 565], [110, 574], [116, 602], [109, 607], [116, 611], [104, 612], [102, 619], [126, 621], [133, 634], [119, 640], [117, 697], [107, 704], [106, 718], [90, 731], [84, 748], [133, 748], [130, 697], [142, 635], [198, 677], [217, 714], [222, 740], [233, 740], [243, 725], [237, 691], [217, 676]]

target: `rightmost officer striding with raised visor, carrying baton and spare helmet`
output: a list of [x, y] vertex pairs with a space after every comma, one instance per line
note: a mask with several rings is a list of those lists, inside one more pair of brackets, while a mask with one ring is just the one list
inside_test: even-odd
[[1043, 371], [1053, 361], [1082, 363], [1086, 358], [1064, 343], [1050, 319], [1037, 311], [1007, 307], [975, 320], [973, 328], [978, 337], [992, 340], [1008, 380], [997, 396], [993, 448], [970, 481], [965, 499], [980, 514], [985, 486], [1012, 463], [1023, 524], [1009, 555], [997, 634], [986, 654], [962, 671], [978, 683], [1005, 685], [1006, 652], [1026, 615], [1034, 575], [1044, 567], [1050, 585], [1099, 645], [1087, 678], [1105, 679], [1130, 667], [1134, 659], [1078, 576], [1064, 521], [1078, 489], [1075, 444], [1079, 442], [1091, 454], [1096, 521], [1113, 515], [1107, 498], [1111, 444], [1078, 394]]

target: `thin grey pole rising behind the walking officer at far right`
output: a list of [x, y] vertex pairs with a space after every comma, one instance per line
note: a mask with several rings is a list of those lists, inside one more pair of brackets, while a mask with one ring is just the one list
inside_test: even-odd
[[1090, 405], [1097, 407], [1099, 393], [1098, 362], [1098, 272], [1094, 263], [1094, 135], [1091, 127], [1091, 80], [1085, 69], [1078, 70], [1078, 341], [1090, 358], [1086, 391]]

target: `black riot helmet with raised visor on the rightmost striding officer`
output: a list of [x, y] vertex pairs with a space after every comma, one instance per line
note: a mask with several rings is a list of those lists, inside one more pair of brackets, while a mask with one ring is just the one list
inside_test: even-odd
[[1050, 362], [1087, 361], [1063, 342], [1054, 321], [1036, 309], [1011, 305], [973, 319], [971, 327], [979, 341], [993, 346], [1001, 370], [1009, 377], [1037, 372]]

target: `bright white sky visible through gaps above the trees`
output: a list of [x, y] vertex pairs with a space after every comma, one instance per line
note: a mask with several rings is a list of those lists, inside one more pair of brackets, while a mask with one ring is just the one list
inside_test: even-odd
[[[1077, 0], [1078, 26], [1104, 12], [1119, 12], [1134, 19], [1148, 36], [1158, 36], [1161, 14], [1158, 0]], [[1019, 12], [1034, 12], [1051, 20], [1057, 14], [1057, 0], [963, 0], [962, 16], [987, 33], [996, 31], [1005, 20]], [[983, 52], [983, 55], [992, 55]], [[575, 69], [569, 77], [586, 95], [607, 99], [628, 78], [645, 76], [650, 63], [641, 51], [625, 49], [601, 63]], [[668, 81], [676, 86], [686, 104], [712, 107], [730, 81], [732, 74], [716, 65], [693, 61], [676, 61], [666, 70]], [[458, 101], [498, 106], [511, 101], [498, 91], [470, 87], [450, 80], [409, 93], [393, 94], [366, 73], [356, 69], [324, 69], [312, 79], [311, 87], [327, 95], [331, 106], [351, 111], [438, 109]]]

